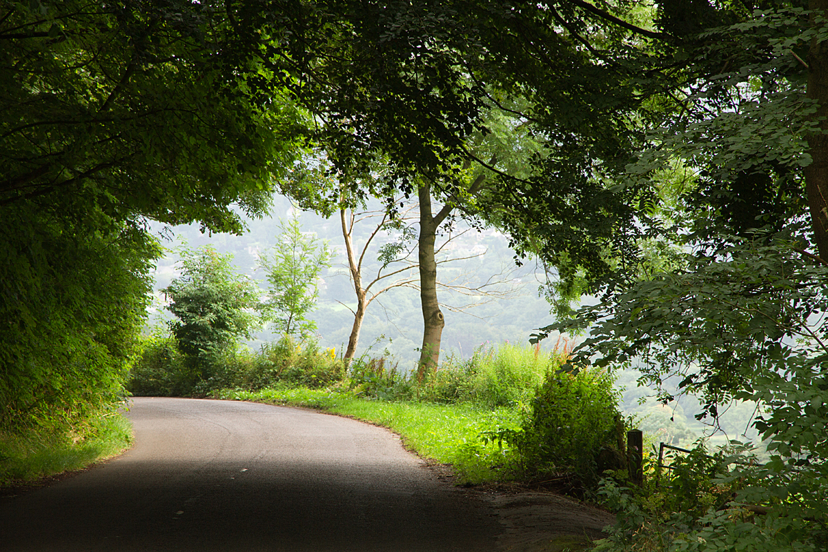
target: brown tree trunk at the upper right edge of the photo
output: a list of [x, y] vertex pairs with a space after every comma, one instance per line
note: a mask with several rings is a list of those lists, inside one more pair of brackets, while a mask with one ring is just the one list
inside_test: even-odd
[[[816, 14], [828, 15], [828, 0], [811, 0], [811, 22]], [[819, 104], [814, 117], [823, 131], [828, 129], [828, 43], [811, 41], [808, 50], [807, 96]], [[828, 136], [815, 132], [808, 137], [811, 165], [805, 168], [806, 193], [811, 209], [816, 246], [820, 257], [828, 261]]]

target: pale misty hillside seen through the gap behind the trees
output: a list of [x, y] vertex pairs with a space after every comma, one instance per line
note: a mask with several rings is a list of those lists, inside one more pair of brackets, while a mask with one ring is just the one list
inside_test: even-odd
[[[156, 291], [168, 286], [177, 274], [177, 255], [173, 249], [180, 240], [185, 240], [191, 247], [210, 244], [219, 252], [233, 254], [233, 263], [240, 273], [247, 274], [258, 281], [262, 290], [266, 288], [265, 275], [257, 270], [258, 254], [266, 251], [276, 242], [278, 221], [293, 213], [294, 209], [288, 199], [282, 196], [274, 198], [270, 217], [248, 219], [248, 232], [241, 236], [232, 234], [212, 235], [200, 233], [199, 226], [192, 224], [168, 229], [154, 227], [157, 233], [165, 236], [163, 244], [169, 249], [156, 268]], [[347, 344], [354, 315], [349, 308], [355, 308], [356, 299], [350, 282], [347, 258], [344, 251], [341, 223], [338, 214], [325, 219], [317, 214], [300, 212], [302, 230], [328, 242], [334, 257], [330, 268], [323, 271], [320, 281], [318, 309], [311, 314], [317, 324], [320, 346], [335, 347], [339, 352], [343, 343]], [[412, 221], [413, 223], [413, 221]], [[354, 247], [361, 250], [368, 235], [376, 228], [376, 220], [366, 220], [354, 227]], [[170, 231], [171, 230], [171, 231]], [[490, 293], [502, 296], [464, 295], [458, 291], [442, 288], [438, 290], [445, 314], [443, 332], [443, 349], [446, 353], [462, 354], [468, 357], [474, 348], [484, 343], [527, 343], [533, 330], [551, 323], [550, 306], [538, 292], [542, 283], [542, 272], [535, 262], [527, 261], [524, 266], [516, 266], [514, 252], [508, 247], [508, 238], [493, 228], [480, 231], [469, 228], [462, 220], [455, 222], [453, 235], [464, 232], [443, 247], [442, 260], [460, 259], [445, 262], [438, 269], [441, 283], [454, 286], [474, 287], [486, 281], [498, 281], [491, 286]], [[370, 281], [381, 267], [378, 262], [378, 250], [383, 243], [398, 238], [398, 233], [380, 233], [365, 254], [363, 281]], [[438, 238], [438, 246], [448, 238]], [[410, 242], [414, 247], [416, 242]], [[416, 258], [416, 251], [414, 254]], [[392, 263], [388, 270], [402, 267]], [[536, 274], [536, 270], [538, 273]], [[408, 271], [409, 276], [416, 276], [415, 271]], [[405, 276], [405, 275], [402, 275]], [[416, 278], [415, 278], [416, 279]], [[383, 286], [387, 286], [383, 283]], [[158, 324], [166, 319], [165, 311], [158, 305], [151, 316], [151, 324]], [[368, 308], [362, 333], [359, 339], [358, 355], [372, 347], [373, 353], [382, 353], [384, 349], [400, 362], [401, 369], [411, 369], [416, 362], [417, 351], [421, 345], [422, 317], [420, 311], [419, 291], [412, 286], [399, 287], [380, 295]], [[384, 336], [384, 337], [383, 337]], [[266, 329], [259, 332], [258, 340], [266, 341], [273, 334]], [[250, 343], [256, 347], [257, 342]], [[545, 343], [552, 346], [554, 343]]]

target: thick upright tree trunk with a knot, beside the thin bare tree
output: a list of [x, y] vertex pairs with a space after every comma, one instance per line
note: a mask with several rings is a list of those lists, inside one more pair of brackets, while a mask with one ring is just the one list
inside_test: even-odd
[[426, 372], [435, 372], [440, 361], [440, 339], [445, 317], [437, 301], [437, 262], [434, 252], [437, 228], [448, 211], [444, 208], [437, 217], [431, 216], [431, 186], [424, 184], [418, 192], [420, 200], [420, 302], [422, 305], [422, 348], [417, 366], [417, 379], [422, 381]]

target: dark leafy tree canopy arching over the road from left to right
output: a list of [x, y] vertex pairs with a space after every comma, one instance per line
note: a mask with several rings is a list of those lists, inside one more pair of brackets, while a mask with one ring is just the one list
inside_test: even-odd
[[[828, 266], [826, 0], [0, 10], [0, 420], [73, 404], [81, 364], [123, 370], [155, 254], [144, 218], [238, 231], [230, 205], [258, 212], [274, 180], [291, 191], [310, 145], [346, 182], [389, 161], [354, 202], [431, 192], [541, 257], [560, 295], [603, 293], [555, 327], [591, 324], [576, 362], [640, 362], [657, 381], [678, 367], [710, 415], [732, 397], [774, 407], [757, 422], [775, 451], [764, 486], [739, 500], [816, 538], [825, 439], [797, 418], [824, 425], [828, 404], [811, 320]], [[474, 149], [493, 113], [538, 144], [526, 170]], [[469, 171], [489, 185], [469, 194]], [[648, 248], [672, 257], [643, 270]]]

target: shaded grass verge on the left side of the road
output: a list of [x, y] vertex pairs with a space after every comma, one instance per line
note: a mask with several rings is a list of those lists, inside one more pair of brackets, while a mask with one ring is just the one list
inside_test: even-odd
[[36, 482], [85, 468], [132, 445], [132, 424], [124, 415], [106, 416], [83, 437], [0, 433], [0, 488]]

